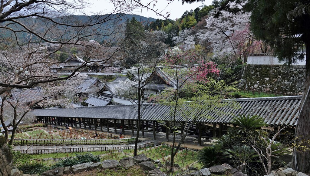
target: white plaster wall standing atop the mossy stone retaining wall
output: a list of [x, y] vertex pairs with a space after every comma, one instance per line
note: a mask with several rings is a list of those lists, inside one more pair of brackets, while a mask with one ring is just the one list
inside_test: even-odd
[[[277, 57], [271, 55], [248, 55], [249, 65], [283, 65], [285, 62], [279, 62]], [[306, 65], [306, 53], [304, 53], [304, 59], [297, 61], [294, 65]]]

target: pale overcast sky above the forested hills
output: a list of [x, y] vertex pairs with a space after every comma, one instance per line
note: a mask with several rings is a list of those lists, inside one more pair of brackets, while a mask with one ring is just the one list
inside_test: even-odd
[[[142, 0], [141, 2], [143, 3], [147, 3], [147, 2], [151, 2], [152, 0]], [[113, 4], [108, 1], [108, 0], [88, 0], [87, 2], [91, 3], [90, 7], [86, 8], [85, 11], [87, 12], [87, 14], [93, 14], [93, 13], [97, 13], [97, 12], [104, 12], [104, 13], [108, 13], [111, 12], [111, 10], [114, 8]], [[157, 0], [156, 3], [156, 9], [158, 9], [158, 11], [162, 11], [162, 14], [165, 14], [166, 12], [170, 12], [171, 15], [169, 16], [170, 19], [176, 19], [176, 18], [180, 18], [182, 16], [182, 14], [188, 10], [190, 11], [191, 9], [195, 9], [196, 7], [199, 7], [201, 5], [211, 5], [212, 0], [205, 0], [205, 2], [195, 2], [192, 4], [185, 4], [182, 5], [181, 1], [177, 1], [174, 0], [173, 2], [171, 2], [168, 6], [167, 3], [170, 2], [169, 0]], [[152, 2], [152, 4], [154, 3], [154, 1]], [[166, 9], [165, 9], [166, 7]], [[157, 11], [157, 12], [158, 12]], [[156, 14], [154, 12], [150, 12], [149, 14], [147, 12], [147, 10], [142, 10], [141, 13], [141, 9], [137, 10], [136, 12], [132, 12], [133, 14], [136, 15], [142, 15], [142, 16], [149, 16], [149, 17], [153, 17], [153, 18], [161, 18], [163, 19], [163, 17], [159, 17], [156, 16]]]

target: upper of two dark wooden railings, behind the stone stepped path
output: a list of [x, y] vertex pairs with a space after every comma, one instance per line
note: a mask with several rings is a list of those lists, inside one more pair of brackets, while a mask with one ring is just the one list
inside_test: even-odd
[[[140, 138], [139, 141], [141, 141]], [[135, 143], [135, 137], [123, 139], [14, 139], [13, 141], [15, 146], [109, 145], [133, 143]]]

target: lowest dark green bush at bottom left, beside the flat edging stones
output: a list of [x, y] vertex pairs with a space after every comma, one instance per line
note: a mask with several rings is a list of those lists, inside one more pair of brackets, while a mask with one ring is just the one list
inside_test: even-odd
[[23, 171], [23, 174], [42, 174], [43, 172], [49, 170], [50, 168], [43, 163], [39, 162], [32, 162], [24, 164], [20, 167], [18, 167], [20, 171]]

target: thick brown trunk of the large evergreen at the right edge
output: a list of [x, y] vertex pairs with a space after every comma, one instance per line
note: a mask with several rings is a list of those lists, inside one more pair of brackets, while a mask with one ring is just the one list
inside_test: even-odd
[[[309, 130], [310, 95], [307, 96], [307, 92], [310, 86], [310, 36], [308, 37], [308, 40], [305, 41], [305, 44], [306, 44], [306, 76], [305, 76], [303, 98], [302, 98], [302, 104], [303, 102], [304, 104], [303, 104], [303, 109], [301, 110], [299, 117], [298, 117], [295, 137], [298, 138], [297, 139], [298, 141], [296, 142], [305, 141], [305, 142], [301, 142], [301, 146], [309, 147], [309, 143], [307, 141], [310, 140], [310, 130]], [[310, 172], [309, 161], [310, 161], [309, 150], [306, 150], [303, 152], [294, 152], [293, 158], [292, 158], [292, 168], [299, 172], [308, 173]]]

